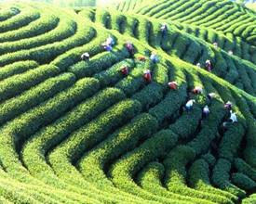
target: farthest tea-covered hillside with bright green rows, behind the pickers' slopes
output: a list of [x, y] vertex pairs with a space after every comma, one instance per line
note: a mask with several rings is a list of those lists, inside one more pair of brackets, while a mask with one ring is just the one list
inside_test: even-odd
[[134, 2], [137, 1], [122, 1], [117, 9], [213, 29], [226, 35], [235, 35], [249, 45], [256, 45], [255, 13], [229, 0], [160, 0], [157, 3], [149, 0], [133, 6]]

